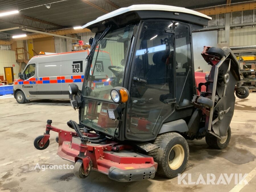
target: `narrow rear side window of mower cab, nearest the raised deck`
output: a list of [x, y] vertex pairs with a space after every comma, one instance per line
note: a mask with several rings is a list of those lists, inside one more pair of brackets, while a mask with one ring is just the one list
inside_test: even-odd
[[175, 23], [176, 106], [191, 106], [194, 93], [189, 26]]

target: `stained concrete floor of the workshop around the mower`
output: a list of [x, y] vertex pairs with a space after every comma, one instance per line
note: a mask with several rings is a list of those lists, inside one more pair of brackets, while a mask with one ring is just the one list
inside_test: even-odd
[[[39, 170], [40, 165], [72, 163], [57, 156], [57, 133], [51, 132], [50, 145], [39, 151], [33, 141], [45, 131], [47, 119], [53, 126], [69, 129], [66, 122], [77, 121], [78, 112], [69, 101], [34, 101], [18, 104], [14, 98], [0, 99], [0, 189], [1, 191], [255, 191], [256, 190], [256, 93], [247, 99], [236, 100], [236, 110], [231, 122], [230, 145], [224, 150], [207, 146], [205, 139], [188, 141], [190, 157], [185, 173], [197, 181], [202, 173], [248, 173], [249, 185], [178, 185], [178, 179], [155, 177], [150, 180], [119, 183], [108, 176], [92, 171], [86, 179], [78, 179], [73, 170]], [[186, 177], [186, 181], [188, 179]], [[216, 183], [216, 181], [215, 181]], [[235, 187], [236, 186], [236, 187]], [[234, 188], [235, 187], [235, 188]]]

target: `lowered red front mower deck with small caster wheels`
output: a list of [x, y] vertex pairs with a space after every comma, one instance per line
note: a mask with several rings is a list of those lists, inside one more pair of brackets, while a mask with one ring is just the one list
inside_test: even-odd
[[[70, 162], [78, 162], [75, 164], [74, 169], [76, 176], [87, 177], [91, 170], [96, 170], [119, 182], [154, 178], [157, 163], [154, 162], [153, 157], [135, 152], [132, 146], [113, 141], [106, 141], [100, 144], [86, 143], [88, 142], [87, 137], [96, 137], [98, 135], [84, 133], [83, 138], [80, 139], [77, 137], [76, 132], [58, 129], [51, 126], [51, 123], [51, 120], [47, 121], [46, 133], [44, 133], [44, 136], [39, 136], [39, 139], [36, 138], [35, 143], [37, 145], [35, 147], [40, 150], [47, 148], [49, 145], [49, 132], [55, 131], [59, 133], [57, 154]], [[79, 163], [81, 161], [82, 163]], [[83, 171], [81, 166], [83, 166], [84, 170], [87, 170], [87, 173], [79, 173]]]

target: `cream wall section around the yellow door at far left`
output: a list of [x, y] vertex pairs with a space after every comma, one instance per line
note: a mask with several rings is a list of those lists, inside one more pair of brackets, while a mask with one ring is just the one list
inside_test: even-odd
[[15, 51], [11, 50], [0, 50], [0, 75], [5, 77], [4, 67], [13, 67], [14, 79], [18, 78], [19, 65], [16, 63]]

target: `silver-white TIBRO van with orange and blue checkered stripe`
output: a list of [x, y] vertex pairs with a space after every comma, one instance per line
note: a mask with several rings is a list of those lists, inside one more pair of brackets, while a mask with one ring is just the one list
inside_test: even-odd
[[14, 82], [18, 103], [31, 99], [69, 99], [70, 83], [82, 89], [88, 50], [32, 57]]

